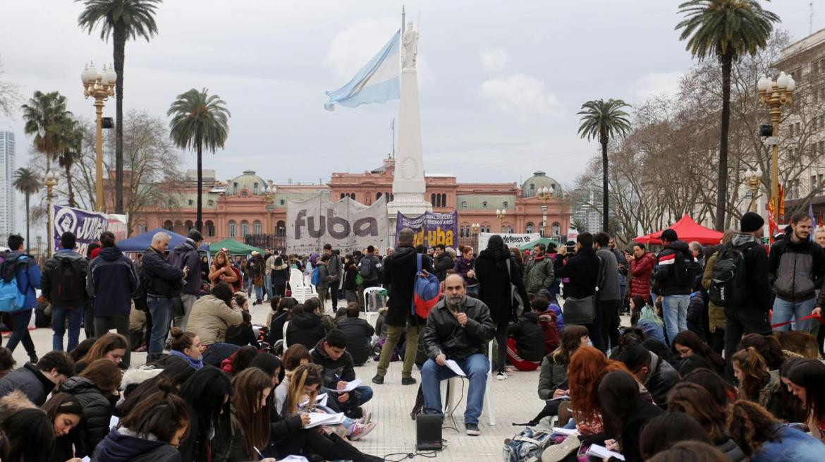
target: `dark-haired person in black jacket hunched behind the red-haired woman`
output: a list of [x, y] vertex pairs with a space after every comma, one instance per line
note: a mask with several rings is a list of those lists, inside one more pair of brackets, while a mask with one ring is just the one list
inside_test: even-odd
[[667, 393], [679, 381], [679, 373], [667, 361], [662, 361], [653, 351], [641, 344], [622, 349], [617, 360], [625, 363], [633, 375], [653, 395], [653, 403], [660, 408], [667, 406]]

